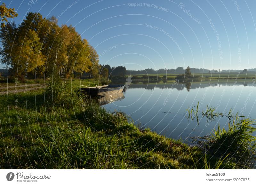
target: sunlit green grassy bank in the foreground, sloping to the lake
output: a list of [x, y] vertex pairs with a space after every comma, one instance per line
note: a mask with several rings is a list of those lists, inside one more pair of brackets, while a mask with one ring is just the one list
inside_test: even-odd
[[0, 101], [2, 169], [247, 168], [215, 148], [205, 154], [206, 148], [140, 129], [125, 114], [84, 101], [75, 84], [55, 80]]

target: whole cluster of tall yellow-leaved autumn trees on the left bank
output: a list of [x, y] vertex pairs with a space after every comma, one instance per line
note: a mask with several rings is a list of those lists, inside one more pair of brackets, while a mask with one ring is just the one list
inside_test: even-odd
[[40, 13], [29, 12], [19, 27], [7, 22], [0, 32], [0, 61], [18, 76], [24, 73], [55, 74], [68, 78], [74, 72], [99, 76], [96, 50], [74, 27], [60, 27], [57, 20], [56, 17], [46, 19]]

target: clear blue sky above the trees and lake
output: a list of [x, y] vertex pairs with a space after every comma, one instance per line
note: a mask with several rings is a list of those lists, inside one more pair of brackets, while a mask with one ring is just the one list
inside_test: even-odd
[[28, 12], [39, 12], [47, 18], [56, 16], [59, 25], [76, 27], [97, 50], [100, 64], [139, 70], [256, 67], [256, 1], [3, 2], [19, 14], [10, 19], [16, 24]]

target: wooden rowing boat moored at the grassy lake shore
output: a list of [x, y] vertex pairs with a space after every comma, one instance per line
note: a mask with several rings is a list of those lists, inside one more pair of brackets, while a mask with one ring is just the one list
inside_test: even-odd
[[96, 87], [87, 87], [80, 88], [82, 92], [90, 96], [108, 96], [113, 94], [118, 94], [123, 92], [124, 86], [116, 85], [116, 86], [109, 86], [109, 85], [102, 85]]

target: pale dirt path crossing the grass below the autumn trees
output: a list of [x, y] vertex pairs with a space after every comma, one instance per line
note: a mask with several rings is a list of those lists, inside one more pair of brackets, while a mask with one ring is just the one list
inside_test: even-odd
[[[24, 88], [25, 87], [25, 88]], [[26, 88], [27, 87], [27, 88]], [[15, 89], [13, 89], [15, 88]], [[21, 89], [20, 89], [21, 88]], [[5, 95], [5, 94], [12, 94], [12, 93], [20, 93], [20, 92], [25, 92], [25, 91], [30, 91], [30, 90], [36, 90], [36, 89], [41, 89], [41, 88], [44, 88], [44, 84], [36, 84], [36, 87], [35, 87], [35, 84], [29, 84], [29, 85], [18, 85], [18, 86], [8, 86], [8, 89], [10, 90], [7, 90], [7, 87], [0, 87], [0, 89], [5, 89], [4, 91], [1, 91], [0, 92], [0, 95]]]

